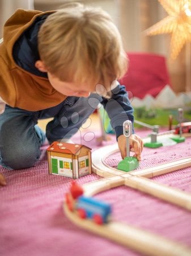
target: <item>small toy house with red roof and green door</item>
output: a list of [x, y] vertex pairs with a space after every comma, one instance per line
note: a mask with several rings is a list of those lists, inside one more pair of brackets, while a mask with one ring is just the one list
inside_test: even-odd
[[91, 174], [91, 148], [82, 144], [53, 142], [47, 148], [49, 174], [78, 179]]

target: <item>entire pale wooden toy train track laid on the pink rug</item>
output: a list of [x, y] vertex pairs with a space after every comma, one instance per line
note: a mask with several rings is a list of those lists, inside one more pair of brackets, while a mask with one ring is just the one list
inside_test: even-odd
[[[86, 183], [83, 185], [84, 195], [93, 196], [96, 193], [106, 191], [108, 189], [126, 185], [139, 191], [146, 192], [152, 196], [159, 197], [169, 203], [178, 205], [179, 207], [191, 210], [191, 195], [180, 191], [179, 189], [168, 187], [149, 180], [149, 177], [162, 175], [168, 172], [180, 170], [191, 166], [191, 158], [181, 159], [152, 168], [135, 170], [128, 173], [119, 171], [115, 168], [107, 166], [104, 163], [107, 156], [118, 152], [118, 145], [110, 145], [102, 147], [92, 152], [92, 170], [103, 179]], [[66, 204], [63, 204], [66, 216], [72, 222], [83, 229], [96, 233], [99, 236], [108, 238], [114, 242], [120, 243], [144, 255], [161, 256], [161, 255], [179, 255], [191, 256], [191, 249], [167, 240], [163, 237], [156, 236], [145, 230], [134, 228], [120, 222], [111, 221], [106, 225], [98, 226], [90, 220], [82, 220], [74, 212], [70, 212]]]

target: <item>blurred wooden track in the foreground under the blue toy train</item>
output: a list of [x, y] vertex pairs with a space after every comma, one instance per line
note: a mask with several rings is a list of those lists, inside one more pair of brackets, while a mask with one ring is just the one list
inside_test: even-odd
[[66, 216], [78, 225], [98, 236], [105, 237], [116, 243], [120, 243], [130, 249], [150, 256], [190, 256], [191, 250], [188, 247], [179, 245], [176, 242], [156, 236], [124, 223], [111, 221], [107, 225], [97, 225], [90, 220], [82, 220], [74, 212], [70, 212], [67, 205], [63, 205]]

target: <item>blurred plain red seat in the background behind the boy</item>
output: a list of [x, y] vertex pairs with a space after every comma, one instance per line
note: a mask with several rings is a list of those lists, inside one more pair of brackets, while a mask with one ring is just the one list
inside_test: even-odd
[[133, 97], [143, 98], [146, 94], [156, 97], [165, 85], [171, 86], [164, 56], [142, 52], [127, 54], [129, 68], [120, 84], [125, 85]]

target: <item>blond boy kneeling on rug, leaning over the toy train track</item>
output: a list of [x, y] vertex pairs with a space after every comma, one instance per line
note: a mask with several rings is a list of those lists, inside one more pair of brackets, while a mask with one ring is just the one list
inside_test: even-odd
[[[105, 11], [79, 3], [45, 13], [17, 10], [5, 23], [0, 65], [3, 167], [29, 168], [39, 160], [45, 134], [38, 119], [54, 117], [46, 126], [49, 143], [67, 141], [94, 112], [92, 101], [107, 109], [125, 157], [122, 123], [128, 118], [133, 122], [133, 109], [116, 79], [125, 74], [127, 60]], [[140, 160], [141, 138], [131, 135], [130, 144]], [[2, 176], [0, 180], [6, 184]]]

